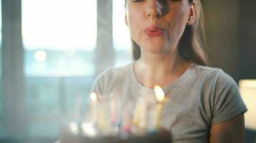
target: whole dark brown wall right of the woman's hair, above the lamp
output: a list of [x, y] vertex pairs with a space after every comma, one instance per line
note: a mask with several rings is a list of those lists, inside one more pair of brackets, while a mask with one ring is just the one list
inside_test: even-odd
[[256, 79], [256, 1], [202, 1], [211, 66], [236, 82]]

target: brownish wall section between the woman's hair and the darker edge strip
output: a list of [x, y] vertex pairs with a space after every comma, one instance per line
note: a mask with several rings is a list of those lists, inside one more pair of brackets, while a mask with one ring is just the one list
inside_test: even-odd
[[203, 1], [211, 65], [237, 77], [238, 0]]

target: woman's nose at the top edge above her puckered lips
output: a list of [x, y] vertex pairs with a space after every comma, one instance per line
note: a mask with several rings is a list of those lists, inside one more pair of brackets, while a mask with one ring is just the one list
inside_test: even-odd
[[146, 9], [147, 17], [159, 19], [163, 15], [163, 5], [158, 0], [150, 1]]

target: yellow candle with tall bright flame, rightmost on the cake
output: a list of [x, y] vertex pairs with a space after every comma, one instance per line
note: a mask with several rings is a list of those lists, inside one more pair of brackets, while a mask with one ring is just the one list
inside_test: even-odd
[[157, 106], [155, 108], [155, 128], [159, 129], [161, 126], [161, 112], [163, 109], [163, 101], [165, 99], [165, 93], [159, 86], [155, 86], [155, 97], [157, 99]]

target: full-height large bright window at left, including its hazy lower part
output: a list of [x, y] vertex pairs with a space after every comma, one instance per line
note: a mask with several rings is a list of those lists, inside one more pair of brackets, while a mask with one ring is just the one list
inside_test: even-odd
[[[94, 76], [96, 1], [22, 0], [29, 138], [58, 137]], [[86, 101], [83, 101], [86, 103]]]

